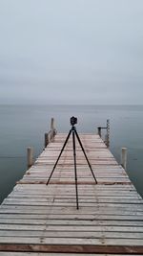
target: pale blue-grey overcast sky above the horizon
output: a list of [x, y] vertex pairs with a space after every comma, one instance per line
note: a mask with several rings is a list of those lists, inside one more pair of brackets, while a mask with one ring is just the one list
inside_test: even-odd
[[0, 104], [142, 105], [142, 0], [0, 0]]

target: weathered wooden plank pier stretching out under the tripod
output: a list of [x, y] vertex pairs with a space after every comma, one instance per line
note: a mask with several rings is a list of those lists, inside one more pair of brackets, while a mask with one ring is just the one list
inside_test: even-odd
[[99, 135], [79, 134], [97, 179], [72, 139], [56, 134], [0, 207], [0, 256], [143, 255], [143, 200]]

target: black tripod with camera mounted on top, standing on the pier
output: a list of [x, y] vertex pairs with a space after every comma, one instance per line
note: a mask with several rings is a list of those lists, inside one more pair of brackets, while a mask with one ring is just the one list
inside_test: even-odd
[[[87, 156], [87, 154], [86, 154], [86, 152], [85, 152], [85, 150], [84, 150], [84, 148], [83, 148], [83, 145], [82, 145], [81, 140], [80, 140], [80, 138], [79, 138], [79, 136], [78, 136], [78, 133], [77, 133], [77, 131], [76, 131], [76, 128], [74, 127], [74, 125], [75, 125], [76, 123], [77, 123], [77, 119], [74, 118], [74, 117], [72, 117], [72, 118], [71, 118], [72, 128], [70, 129], [69, 134], [68, 134], [68, 136], [67, 136], [67, 138], [66, 138], [66, 141], [65, 141], [65, 143], [64, 143], [64, 145], [63, 145], [63, 147], [62, 147], [62, 150], [60, 151], [59, 156], [58, 156], [58, 158], [57, 158], [57, 160], [56, 160], [56, 162], [55, 162], [55, 164], [54, 164], [54, 166], [53, 166], [53, 169], [52, 169], [52, 171], [51, 171], [51, 175], [53, 174], [54, 169], [56, 168], [56, 165], [57, 165], [57, 163], [58, 163], [58, 161], [59, 161], [59, 159], [60, 159], [60, 156], [61, 156], [62, 152], [64, 151], [64, 149], [65, 149], [65, 147], [66, 147], [66, 144], [67, 144], [67, 142], [68, 142], [68, 140], [69, 140], [69, 138], [70, 138], [70, 136], [71, 136], [71, 134], [72, 134], [72, 147], [73, 147], [73, 160], [74, 160], [74, 177], [75, 177], [75, 192], [76, 192], [76, 209], [79, 209], [79, 207], [78, 207], [77, 171], [76, 171], [75, 136], [76, 136], [76, 138], [77, 138], [77, 140], [78, 140], [78, 142], [79, 142], [79, 145], [80, 145], [80, 147], [81, 147], [81, 149], [82, 149], [82, 151], [83, 151], [83, 153], [84, 153], [84, 155], [85, 155], [85, 158], [86, 158], [86, 160], [87, 160], [87, 162], [88, 162], [88, 165], [89, 165], [89, 168], [90, 168], [90, 170], [91, 170], [91, 172], [92, 172], [92, 176], [93, 176], [93, 178], [94, 178], [95, 184], [97, 184], [97, 180], [96, 180], [96, 178], [95, 178], [95, 175], [93, 174], [92, 166], [91, 166], [91, 164], [90, 164], [90, 162], [89, 162], [89, 159], [88, 159], [88, 156]], [[50, 180], [51, 180], [51, 175], [50, 175], [50, 177], [49, 177], [49, 179], [48, 179], [46, 185], [49, 184], [49, 182], [50, 182]]]

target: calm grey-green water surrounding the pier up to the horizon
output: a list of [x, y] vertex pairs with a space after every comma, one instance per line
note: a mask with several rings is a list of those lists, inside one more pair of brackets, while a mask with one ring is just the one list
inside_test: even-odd
[[72, 115], [78, 132], [96, 132], [110, 119], [110, 149], [120, 161], [121, 148], [128, 148], [127, 172], [143, 196], [143, 105], [0, 105], [0, 201], [26, 172], [27, 147], [34, 148], [35, 157], [42, 151], [51, 117], [59, 132], [69, 132]]

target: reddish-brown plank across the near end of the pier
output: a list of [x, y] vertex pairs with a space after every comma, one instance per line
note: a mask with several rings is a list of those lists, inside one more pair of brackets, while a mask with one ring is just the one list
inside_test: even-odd
[[[8, 238], [7, 238], [8, 239]], [[12, 240], [12, 238], [10, 238]], [[120, 240], [113, 240], [114, 242], [119, 242], [117, 244], [111, 245], [111, 240], [106, 240], [106, 245], [104, 245], [104, 240], [100, 241], [97, 239], [91, 239], [88, 240], [87, 244], [85, 243], [84, 239], [78, 239], [78, 244], [76, 244], [75, 241], [77, 239], [74, 239], [73, 241], [71, 239], [66, 239], [67, 244], [65, 244], [65, 238], [60, 239], [58, 242], [54, 240], [54, 238], [47, 240], [44, 239], [44, 243], [40, 243], [40, 241], [36, 238], [32, 239], [30, 241], [30, 238], [22, 238], [19, 239], [19, 243], [15, 244], [18, 238], [14, 238], [12, 240], [12, 243], [14, 244], [6, 244], [6, 239], [0, 238], [0, 241], [2, 241], [3, 244], [0, 244], [0, 250], [7, 250], [7, 251], [41, 251], [41, 252], [60, 252], [60, 253], [143, 253], [143, 246], [142, 241], [135, 240], [135, 245], [131, 245], [133, 243], [133, 240], [129, 240], [128, 243], [124, 239]], [[47, 244], [47, 241], [52, 244]], [[20, 244], [20, 241], [22, 244]], [[31, 242], [31, 245], [30, 245]], [[42, 240], [43, 242], [43, 240]], [[96, 245], [92, 245], [93, 242], [96, 243]]]

